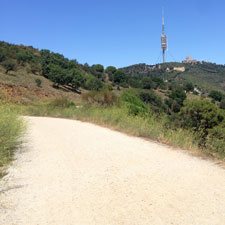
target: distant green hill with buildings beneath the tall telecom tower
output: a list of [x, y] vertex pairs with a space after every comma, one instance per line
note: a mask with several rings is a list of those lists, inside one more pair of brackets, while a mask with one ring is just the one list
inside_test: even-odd
[[[185, 71], [174, 71], [174, 67], [184, 67]], [[225, 93], [225, 66], [208, 62], [197, 64], [166, 63], [163, 65], [136, 64], [121, 68], [127, 75], [141, 77], [160, 77], [168, 82], [178, 82], [183, 85], [191, 82], [204, 92], [220, 90]]]

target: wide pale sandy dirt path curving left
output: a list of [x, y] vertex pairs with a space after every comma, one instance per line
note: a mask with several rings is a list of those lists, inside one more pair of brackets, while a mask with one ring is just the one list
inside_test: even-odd
[[29, 118], [1, 225], [224, 225], [225, 170], [92, 124]]

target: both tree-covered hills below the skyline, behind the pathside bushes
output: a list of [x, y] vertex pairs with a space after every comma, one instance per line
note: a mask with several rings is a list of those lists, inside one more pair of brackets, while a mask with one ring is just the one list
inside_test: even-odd
[[[185, 71], [176, 71], [174, 67], [178, 70], [183, 67]], [[101, 64], [82, 65], [49, 50], [0, 42], [0, 90], [14, 100], [79, 99], [85, 90], [99, 90], [104, 86], [116, 90], [128, 87], [149, 89], [143, 86], [145, 77], [152, 79], [155, 85], [151, 88], [154, 89], [183, 88], [191, 83], [206, 97], [212, 90], [225, 94], [225, 66], [222, 65], [206, 62], [136, 64], [117, 70], [113, 66], [104, 68]]]

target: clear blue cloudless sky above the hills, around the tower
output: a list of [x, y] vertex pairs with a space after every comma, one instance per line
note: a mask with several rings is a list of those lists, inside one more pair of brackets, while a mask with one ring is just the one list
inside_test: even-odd
[[155, 64], [162, 7], [167, 61], [225, 64], [224, 0], [1, 0], [0, 40], [90, 65]]

